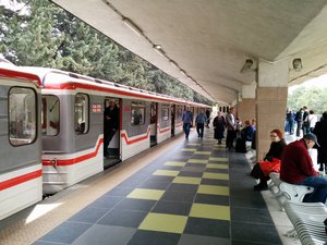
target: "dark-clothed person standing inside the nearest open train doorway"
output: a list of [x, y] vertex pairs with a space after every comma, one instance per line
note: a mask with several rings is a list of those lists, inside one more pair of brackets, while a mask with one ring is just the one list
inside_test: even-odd
[[114, 100], [106, 100], [104, 113], [104, 157], [109, 158], [108, 146], [119, 128], [119, 108]]

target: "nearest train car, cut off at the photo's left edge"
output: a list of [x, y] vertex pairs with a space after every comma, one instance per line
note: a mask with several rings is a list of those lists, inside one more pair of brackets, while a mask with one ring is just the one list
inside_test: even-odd
[[43, 198], [40, 79], [0, 60], [0, 220]]

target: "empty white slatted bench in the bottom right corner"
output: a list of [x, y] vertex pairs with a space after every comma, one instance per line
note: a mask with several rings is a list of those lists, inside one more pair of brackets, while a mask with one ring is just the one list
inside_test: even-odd
[[[294, 232], [303, 245], [325, 245], [327, 234], [324, 220], [327, 218], [327, 208], [322, 203], [286, 201], [284, 210]], [[294, 233], [289, 232], [289, 234]]]

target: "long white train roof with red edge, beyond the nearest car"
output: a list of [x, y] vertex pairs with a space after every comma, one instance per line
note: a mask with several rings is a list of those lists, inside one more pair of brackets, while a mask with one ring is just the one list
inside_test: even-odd
[[134, 97], [136, 99], [138, 98], [150, 101], [166, 101], [182, 105], [187, 103], [190, 106], [196, 107], [209, 107], [208, 105], [187, 101], [184, 99], [174, 98], [172, 96], [162, 95], [155, 91], [148, 91], [145, 89], [140, 89], [105, 79], [94, 78], [90, 76], [80, 75], [72, 72], [35, 66], [24, 66], [22, 69], [37, 74], [41, 79], [43, 87], [46, 89], [81, 88], [110, 93], [119, 97]]

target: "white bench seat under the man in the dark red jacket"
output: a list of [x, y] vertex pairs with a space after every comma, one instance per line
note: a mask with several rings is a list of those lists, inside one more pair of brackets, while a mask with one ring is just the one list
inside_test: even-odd
[[287, 200], [302, 203], [304, 196], [314, 191], [314, 188], [310, 186], [293, 185], [283, 182], [279, 179], [279, 173], [271, 172], [269, 173], [269, 177], [271, 179], [269, 188], [278, 199], [281, 209], [283, 209], [283, 205]]

